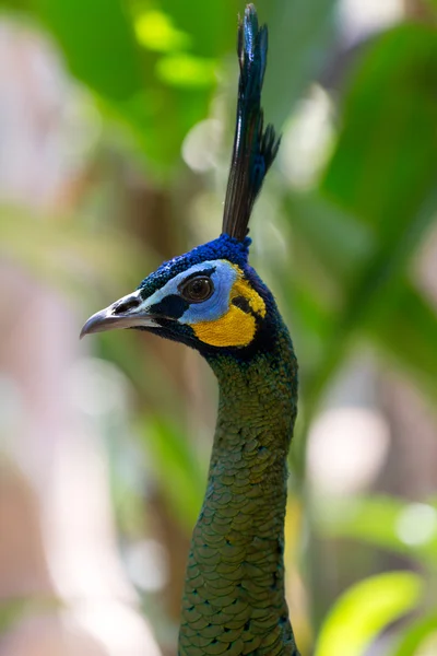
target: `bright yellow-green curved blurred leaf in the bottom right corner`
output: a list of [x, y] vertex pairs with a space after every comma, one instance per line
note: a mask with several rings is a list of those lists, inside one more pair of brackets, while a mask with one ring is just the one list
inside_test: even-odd
[[423, 581], [412, 572], [366, 578], [334, 604], [321, 628], [315, 656], [363, 656], [378, 633], [418, 602]]

